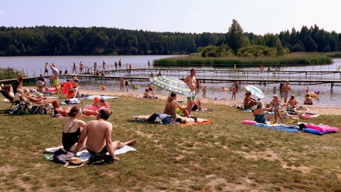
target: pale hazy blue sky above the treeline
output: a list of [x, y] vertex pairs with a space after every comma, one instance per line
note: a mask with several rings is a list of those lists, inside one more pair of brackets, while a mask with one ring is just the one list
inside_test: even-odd
[[3, 0], [0, 26], [104, 26], [157, 32], [279, 33], [317, 24], [341, 33], [337, 0]]

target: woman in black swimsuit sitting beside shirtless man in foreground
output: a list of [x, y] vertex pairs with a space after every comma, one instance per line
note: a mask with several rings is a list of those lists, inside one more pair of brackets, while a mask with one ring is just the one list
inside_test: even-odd
[[[62, 142], [65, 150], [73, 152], [77, 146], [80, 133], [83, 127], [85, 127], [85, 122], [80, 120], [82, 118], [82, 110], [80, 110], [79, 106], [73, 106], [67, 115], [70, 118], [63, 125]], [[85, 143], [82, 144], [80, 150], [85, 149]]]

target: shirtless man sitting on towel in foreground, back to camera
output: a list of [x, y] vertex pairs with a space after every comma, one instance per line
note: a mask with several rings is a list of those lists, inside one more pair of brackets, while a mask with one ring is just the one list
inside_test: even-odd
[[75, 155], [77, 155], [77, 151], [80, 150], [80, 147], [85, 142], [85, 138], [87, 138], [85, 146], [87, 146], [87, 151], [89, 151], [90, 154], [109, 152], [112, 158], [117, 161], [119, 161], [119, 158], [114, 154], [115, 149], [122, 148], [126, 145], [136, 144], [136, 140], [131, 140], [129, 142], [112, 142], [112, 123], [107, 122], [110, 114], [112, 114], [112, 112], [109, 110], [100, 110], [96, 120], [89, 121], [85, 124], [74, 151]]

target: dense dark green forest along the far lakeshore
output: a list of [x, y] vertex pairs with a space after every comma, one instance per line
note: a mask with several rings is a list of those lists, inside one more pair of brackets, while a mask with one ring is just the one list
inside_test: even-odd
[[[0, 56], [13, 55], [168, 55], [203, 52], [216, 47], [223, 55], [256, 56], [289, 52], [332, 52], [341, 50], [341, 34], [318, 26], [301, 31], [244, 33], [235, 20], [227, 33], [171, 33], [105, 27], [5, 27], [0, 28]], [[265, 47], [265, 48], [264, 48]], [[214, 49], [214, 48], [213, 48]], [[207, 56], [220, 56], [211, 51]], [[250, 52], [252, 54], [250, 55]], [[206, 53], [203, 54], [203, 56]], [[210, 55], [211, 54], [211, 55]]]

